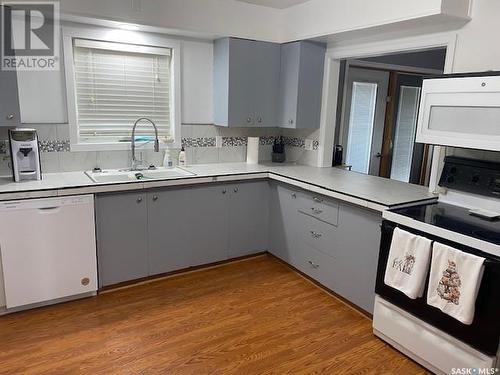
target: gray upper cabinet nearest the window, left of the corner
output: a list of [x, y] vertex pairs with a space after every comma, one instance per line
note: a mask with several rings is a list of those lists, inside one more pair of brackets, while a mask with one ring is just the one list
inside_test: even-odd
[[214, 45], [215, 124], [274, 127], [278, 121], [280, 45], [223, 38]]

